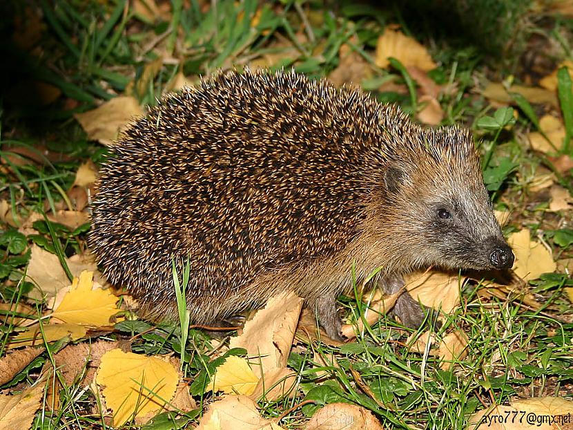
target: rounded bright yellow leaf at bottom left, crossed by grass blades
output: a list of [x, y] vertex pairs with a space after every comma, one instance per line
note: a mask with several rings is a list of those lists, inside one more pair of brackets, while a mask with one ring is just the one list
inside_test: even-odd
[[168, 362], [113, 349], [101, 357], [96, 382], [103, 389], [106, 406], [113, 411], [115, 427], [139, 416], [159, 411], [169, 402], [179, 377]]

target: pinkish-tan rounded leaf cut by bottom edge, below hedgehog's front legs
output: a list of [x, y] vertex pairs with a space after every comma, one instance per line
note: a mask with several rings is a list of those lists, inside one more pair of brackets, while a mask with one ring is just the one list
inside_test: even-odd
[[365, 408], [347, 403], [331, 403], [316, 412], [305, 430], [383, 430], [380, 421]]

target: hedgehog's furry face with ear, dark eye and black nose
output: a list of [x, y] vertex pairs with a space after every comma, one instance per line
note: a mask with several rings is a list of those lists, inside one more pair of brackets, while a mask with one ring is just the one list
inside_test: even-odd
[[[405, 214], [398, 236], [407, 238], [420, 267], [507, 269], [514, 262], [494, 217], [478, 163], [460, 168], [443, 163], [389, 169], [388, 195]], [[400, 239], [403, 240], [403, 239]]]

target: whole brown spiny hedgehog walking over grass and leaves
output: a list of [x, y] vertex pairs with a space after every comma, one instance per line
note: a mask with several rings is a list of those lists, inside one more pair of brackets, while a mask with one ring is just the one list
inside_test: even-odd
[[[177, 316], [172, 262], [189, 263], [195, 324], [294, 291], [340, 339], [336, 299], [374, 270], [394, 293], [420, 268], [514, 261], [469, 131], [420, 127], [357, 88], [220, 73], [164, 97], [113, 151], [89, 240], [148, 319]], [[394, 311], [424, 318], [407, 292]]]

